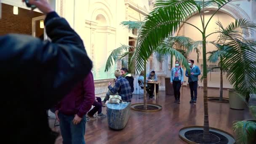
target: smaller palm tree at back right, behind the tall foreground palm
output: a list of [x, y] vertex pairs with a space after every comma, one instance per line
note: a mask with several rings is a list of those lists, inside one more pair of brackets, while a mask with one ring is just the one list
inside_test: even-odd
[[223, 46], [221, 44], [215, 43], [215, 42], [210, 42], [213, 45], [216, 46], [216, 50], [210, 51], [207, 54], [210, 54], [207, 61], [210, 63], [218, 63], [217, 67], [209, 67], [208, 71], [212, 71], [213, 69], [220, 69], [221, 74], [220, 74], [220, 94], [219, 94], [219, 101], [222, 101], [223, 99], [223, 72], [227, 72], [228, 69], [224, 67], [223, 65], [223, 59], [225, 54], [227, 54], [227, 46]]

